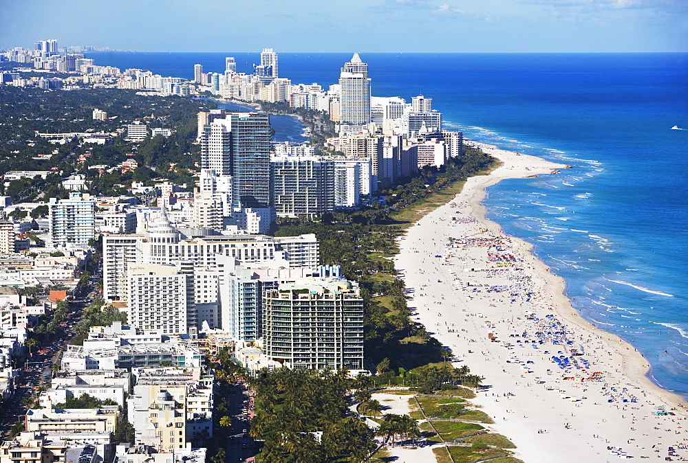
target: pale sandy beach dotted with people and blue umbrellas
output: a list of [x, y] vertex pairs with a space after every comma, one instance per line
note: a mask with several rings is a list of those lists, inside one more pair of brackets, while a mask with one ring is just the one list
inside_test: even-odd
[[647, 379], [630, 344], [580, 317], [528, 243], [484, 218], [488, 185], [566, 166], [470, 143], [502, 166], [411, 226], [395, 264], [414, 319], [453, 350], [455, 366], [484, 377], [471, 402], [526, 463], [688, 460], [682, 397]]

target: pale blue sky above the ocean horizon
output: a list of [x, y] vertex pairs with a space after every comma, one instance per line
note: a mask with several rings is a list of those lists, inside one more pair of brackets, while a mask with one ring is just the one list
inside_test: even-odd
[[688, 0], [2, 0], [0, 47], [687, 52]]

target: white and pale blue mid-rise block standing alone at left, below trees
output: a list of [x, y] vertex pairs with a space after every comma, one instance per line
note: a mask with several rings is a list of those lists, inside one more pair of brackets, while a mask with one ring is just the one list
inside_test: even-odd
[[96, 201], [86, 193], [69, 193], [68, 199], [50, 198], [50, 237], [55, 245], [88, 246], [96, 238]]

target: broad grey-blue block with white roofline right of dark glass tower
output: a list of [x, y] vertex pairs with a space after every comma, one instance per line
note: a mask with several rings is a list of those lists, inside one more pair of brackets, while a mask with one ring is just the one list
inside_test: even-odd
[[334, 163], [317, 156], [273, 156], [278, 216], [314, 217], [334, 210]]

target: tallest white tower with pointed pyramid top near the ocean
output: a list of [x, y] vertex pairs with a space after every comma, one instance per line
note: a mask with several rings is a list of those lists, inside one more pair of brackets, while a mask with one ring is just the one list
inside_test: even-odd
[[355, 53], [339, 75], [339, 119], [348, 124], [370, 122], [370, 79], [368, 65]]

